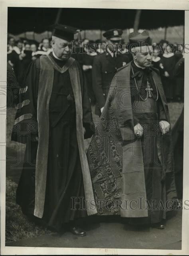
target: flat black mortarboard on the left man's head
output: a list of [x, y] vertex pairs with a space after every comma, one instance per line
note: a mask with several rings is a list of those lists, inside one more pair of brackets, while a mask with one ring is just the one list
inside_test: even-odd
[[54, 24], [51, 28], [53, 29], [53, 36], [57, 36], [67, 41], [74, 40], [74, 34], [77, 32], [80, 33], [81, 31], [79, 28], [73, 28], [63, 24]]

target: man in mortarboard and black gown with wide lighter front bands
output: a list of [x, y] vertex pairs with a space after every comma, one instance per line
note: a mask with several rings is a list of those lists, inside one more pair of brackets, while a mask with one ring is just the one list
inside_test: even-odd
[[12, 139], [26, 143], [16, 194], [22, 212], [54, 230], [68, 226], [85, 236], [75, 220], [96, 213], [79, 204], [81, 198], [94, 200], [84, 145], [92, 135], [92, 114], [83, 72], [70, 56], [75, 32], [55, 25], [53, 52], [31, 63]]

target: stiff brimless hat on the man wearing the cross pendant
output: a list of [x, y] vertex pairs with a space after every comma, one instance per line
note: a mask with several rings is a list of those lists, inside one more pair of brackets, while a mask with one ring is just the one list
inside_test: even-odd
[[152, 45], [152, 38], [150, 38], [150, 35], [146, 30], [144, 30], [142, 33], [132, 32], [129, 34], [129, 42], [130, 45], [135, 47]]

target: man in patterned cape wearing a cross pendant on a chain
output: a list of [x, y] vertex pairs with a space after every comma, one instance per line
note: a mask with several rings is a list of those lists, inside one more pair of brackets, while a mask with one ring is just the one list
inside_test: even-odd
[[177, 195], [169, 111], [151, 48], [147, 31], [130, 34], [133, 60], [112, 80], [88, 160], [99, 215], [163, 229]]

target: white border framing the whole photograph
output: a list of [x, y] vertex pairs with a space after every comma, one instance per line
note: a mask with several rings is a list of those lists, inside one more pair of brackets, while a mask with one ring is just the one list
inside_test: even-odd
[[[111, 8], [111, 9], [161, 9], [185, 10], [185, 44], [189, 43], [189, 3], [187, 0], [1, 0], [0, 1], [0, 85], [6, 84], [7, 63], [7, 14], [8, 7], [52, 7], [53, 8]], [[175, 17], [176, 18], [176, 17]], [[189, 54], [185, 54], [185, 102], [184, 102], [184, 164], [183, 200], [189, 202]], [[1, 105], [6, 106], [6, 96]], [[44, 248], [5, 246], [5, 194], [6, 194], [6, 111], [0, 112], [0, 189], [1, 189], [1, 255], [185, 255], [189, 254], [189, 210], [183, 210], [182, 249], [144, 250], [108, 248]]]

